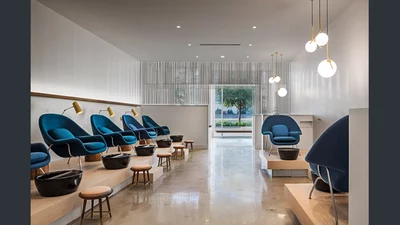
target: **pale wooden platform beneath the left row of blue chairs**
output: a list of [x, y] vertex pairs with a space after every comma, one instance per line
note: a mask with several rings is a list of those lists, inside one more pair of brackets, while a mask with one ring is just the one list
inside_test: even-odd
[[[180, 144], [180, 143], [174, 143]], [[163, 175], [163, 168], [157, 167], [157, 153], [171, 152], [170, 148], [157, 148], [152, 156], [136, 156], [134, 151], [124, 152], [132, 154], [130, 165], [125, 169], [107, 170], [104, 168], [101, 161], [85, 162], [82, 158], [83, 177], [78, 190], [74, 193], [58, 197], [41, 197], [37, 192], [34, 181], [31, 181], [31, 224], [50, 224], [57, 221], [57, 224], [66, 224], [79, 216], [82, 210], [82, 200], [78, 194], [80, 190], [97, 186], [106, 185], [114, 188], [114, 193], [123, 189], [130, 184], [133, 172], [130, 167], [135, 164], [148, 163], [153, 166], [150, 170], [150, 181], [154, 182]], [[111, 149], [110, 153], [115, 153], [116, 150]], [[185, 159], [188, 158], [189, 151], [185, 149]], [[79, 169], [78, 158], [71, 158], [69, 164], [68, 159], [62, 159], [50, 163], [50, 171]], [[138, 187], [139, 188], [139, 187]], [[78, 213], [78, 214], [76, 214]], [[68, 214], [74, 214], [73, 216]], [[65, 218], [67, 217], [67, 218]], [[62, 220], [62, 221], [60, 221]]]

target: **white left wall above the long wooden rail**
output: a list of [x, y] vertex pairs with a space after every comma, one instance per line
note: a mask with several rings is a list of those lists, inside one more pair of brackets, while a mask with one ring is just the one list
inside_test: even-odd
[[31, 91], [141, 103], [140, 63], [31, 2]]

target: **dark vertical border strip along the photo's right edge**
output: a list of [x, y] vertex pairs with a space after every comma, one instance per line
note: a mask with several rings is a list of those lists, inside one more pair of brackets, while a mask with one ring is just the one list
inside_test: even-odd
[[369, 1], [369, 219], [400, 224], [399, 1]]

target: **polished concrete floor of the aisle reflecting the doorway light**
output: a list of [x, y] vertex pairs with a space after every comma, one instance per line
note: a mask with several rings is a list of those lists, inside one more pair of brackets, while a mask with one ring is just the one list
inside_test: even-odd
[[173, 169], [165, 170], [147, 190], [128, 186], [113, 196], [112, 218], [105, 216], [103, 224], [299, 224], [285, 201], [283, 185], [310, 180], [270, 178], [260, 169], [251, 139], [213, 139], [209, 150], [171, 162]]

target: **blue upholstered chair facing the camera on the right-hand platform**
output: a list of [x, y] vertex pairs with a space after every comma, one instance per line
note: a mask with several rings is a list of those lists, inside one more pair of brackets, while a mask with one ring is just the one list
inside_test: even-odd
[[296, 121], [292, 117], [286, 115], [268, 116], [264, 120], [261, 133], [263, 135], [268, 135], [271, 141], [269, 154], [271, 154], [272, 145], [297, 145], [300, 141], [300, 135], [302, 134]]

